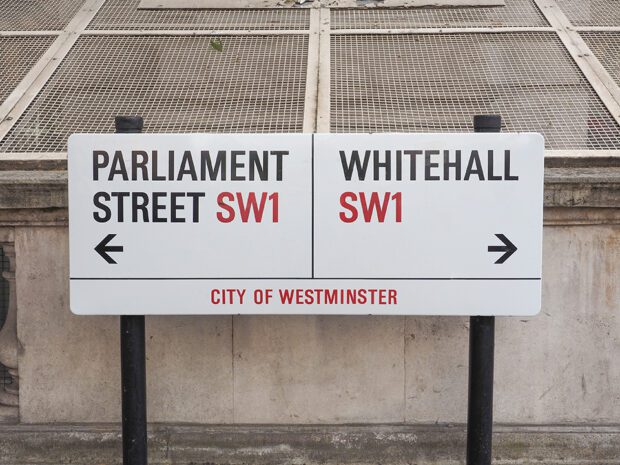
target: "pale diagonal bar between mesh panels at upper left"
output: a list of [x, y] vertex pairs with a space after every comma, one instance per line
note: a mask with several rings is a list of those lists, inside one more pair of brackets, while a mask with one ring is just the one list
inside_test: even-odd
[[87, 0], [58, 38], [31, 68], [15, 90], [0, 106], [0, 141], [8, 134], [19, 117], [60, 66], [80, 34], [95, 17], [105, 0]]

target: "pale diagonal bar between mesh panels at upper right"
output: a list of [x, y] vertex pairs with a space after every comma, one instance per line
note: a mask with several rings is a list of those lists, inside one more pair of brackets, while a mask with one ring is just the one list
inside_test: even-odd
[[[620, 124], [620, 87], [614, 82], [601, 62], [564, 15], [555, 0], [534, 0], [540, 11], [566, 47], [579, 69], [607, 107], [614, 120]], [[589, 30], [588, 28], [579, 28]]]

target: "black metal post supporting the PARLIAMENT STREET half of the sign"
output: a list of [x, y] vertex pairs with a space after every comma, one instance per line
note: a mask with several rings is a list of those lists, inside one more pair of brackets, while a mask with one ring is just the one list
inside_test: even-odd
[[[142, 132], [139, 116], [117, 116], [117, 133]], [[123, 465], [147, 465], [144, 315], [121, 316]]]

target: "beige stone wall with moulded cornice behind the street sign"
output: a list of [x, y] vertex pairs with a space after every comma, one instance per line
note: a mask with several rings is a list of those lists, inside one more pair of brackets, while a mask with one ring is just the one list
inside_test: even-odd
[[[0, 172], [20, 421], [118, 421], [118, 317], [68, 308], [66, 173], [24, 173]], [[498, 423], [620, 423], [618, 192], [617, 166], [548, 167], [543, 309], [498, 318]], [[462, 423], [467, 344], [460, 317], [147, 317], [149, 420]]]

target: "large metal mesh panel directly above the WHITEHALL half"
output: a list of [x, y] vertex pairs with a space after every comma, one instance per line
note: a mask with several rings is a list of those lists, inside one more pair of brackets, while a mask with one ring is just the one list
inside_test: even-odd
[[618, 149], [620, 127], [553, 33], [332, 37], [334, 132], [469, 132], [475, 114], [549, 149]]

